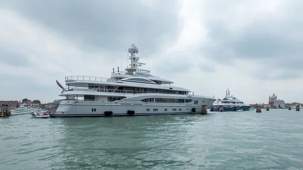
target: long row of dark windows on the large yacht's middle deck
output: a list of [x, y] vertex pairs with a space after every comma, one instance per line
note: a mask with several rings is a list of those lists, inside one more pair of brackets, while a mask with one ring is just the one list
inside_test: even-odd
[[[116, 88], [115, 88], [116, 87]], [[136, 88], [136, 87], [117, 87], [117, 86], [89, 86], [87, 90], [94, 90], [99, 92], [115, 92], [115, 93], [165, 93], [165, 94], [188, 94], [188, 91], [178, 90], [163, 90], [151, 88]], [[71, 90], [84, 90], [79, 88], [68, 89]]]

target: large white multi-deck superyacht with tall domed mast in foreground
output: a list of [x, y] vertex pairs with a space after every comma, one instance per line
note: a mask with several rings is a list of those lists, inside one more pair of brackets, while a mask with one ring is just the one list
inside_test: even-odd
[[[68, 76], [59, 96], [65, 99], [54, 101], [51, 117], [97, 117], [196, 114], [202, 106], [209, 107], [214, 97], [189, 94], [190, 90], [172, 86], [174, 82], [153, 76], [139, 67], [138, 48], [128, 48], [131, 61], [125, 72], [115, 72], [110, 78]], [[129, 55], [130, 54], [130, 55]], [[56, 109], [57, 108], [57, 109]]]

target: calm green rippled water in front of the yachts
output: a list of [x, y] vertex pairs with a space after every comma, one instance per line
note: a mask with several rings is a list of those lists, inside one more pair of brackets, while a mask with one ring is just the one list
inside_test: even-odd
[[0, 118], [0, 169], [303, 169], [303, 110]]

